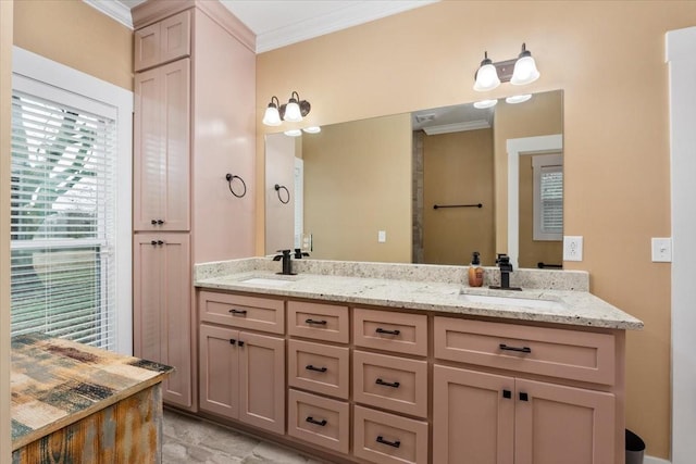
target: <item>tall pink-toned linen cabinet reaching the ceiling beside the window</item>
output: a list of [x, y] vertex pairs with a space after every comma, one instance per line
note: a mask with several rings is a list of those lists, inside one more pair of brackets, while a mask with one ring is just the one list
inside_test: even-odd
[[164, 401], [196, 411], [192, 264], [254, 254], [256, 38], [210, 0], [133, 22], [134, 353], [175, 367]]

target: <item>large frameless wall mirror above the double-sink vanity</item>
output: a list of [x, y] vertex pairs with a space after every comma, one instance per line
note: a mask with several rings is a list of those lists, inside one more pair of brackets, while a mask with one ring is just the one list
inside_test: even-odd
[[562, 91], [265, 137], [266, 254], [562, 264]]

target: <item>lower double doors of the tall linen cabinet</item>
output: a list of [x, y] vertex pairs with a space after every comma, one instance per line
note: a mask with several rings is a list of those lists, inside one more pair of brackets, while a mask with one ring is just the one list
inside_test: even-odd
[[191, 406], [189, 267], [188, 234], [135, 235], [134, 353], [175, 368], [163, 398], [183, 407]]

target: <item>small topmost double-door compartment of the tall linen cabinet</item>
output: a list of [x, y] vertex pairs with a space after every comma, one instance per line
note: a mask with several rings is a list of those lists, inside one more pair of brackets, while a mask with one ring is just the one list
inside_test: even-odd
[[135, 71], [191, 53], [191, 13], [183, 11], [135, 32]]

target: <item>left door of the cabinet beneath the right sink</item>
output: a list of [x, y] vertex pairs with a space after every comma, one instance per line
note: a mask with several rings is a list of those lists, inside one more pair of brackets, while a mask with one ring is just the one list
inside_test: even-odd
[[433, 462], [512, 464], [513, 392], [512, 377], [435, 365]]

